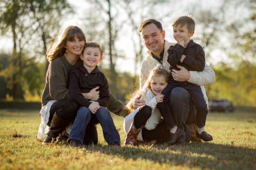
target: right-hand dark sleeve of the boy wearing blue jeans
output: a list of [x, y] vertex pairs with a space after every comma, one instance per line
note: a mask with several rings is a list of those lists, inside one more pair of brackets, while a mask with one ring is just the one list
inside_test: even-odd
[[108, 91], [108, 80], [104, 75], [104, 83], [102, 84], [102, 87], [100, 90], [100, 99], [98, 100], [99, 105], [102, 107], [107, 107], [107, 105], [110, 103], [110, 94]]

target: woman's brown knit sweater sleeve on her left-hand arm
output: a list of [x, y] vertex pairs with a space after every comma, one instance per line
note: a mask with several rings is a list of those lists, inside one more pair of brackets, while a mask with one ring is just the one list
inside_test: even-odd
[[49, 94], [54, 100], [71, 99], [65, 69], [57, 62], [49, 64]]

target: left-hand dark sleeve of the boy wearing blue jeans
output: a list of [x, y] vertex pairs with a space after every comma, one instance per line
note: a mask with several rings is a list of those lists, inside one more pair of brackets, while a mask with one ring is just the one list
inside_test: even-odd
[[81, 89], [79, 88], [78, 74], [75, 73], [75, 70], [71, 71], [69, 75], [69, 91], [71, 97], [77, 103], [79, 103], [81, 106], [89, 107], [91, 101], [87, 100], [82, 95]]

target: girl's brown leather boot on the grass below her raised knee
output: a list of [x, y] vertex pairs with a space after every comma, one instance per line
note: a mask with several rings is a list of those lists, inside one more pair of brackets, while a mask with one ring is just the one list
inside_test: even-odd
[[126, 145], [134, 146], [135, 141], [137, 140], [137, 136], [140, 133], [142, 128], [143, 128], [143, 126], [139, 129], [136, 129], [135, 126], [134, 126], [134, 122], [132, 122], [129, 131], [126, 134], [126, 137], [125, 137], [125, 140], [124, 140], [124, 146], [126, 146]]

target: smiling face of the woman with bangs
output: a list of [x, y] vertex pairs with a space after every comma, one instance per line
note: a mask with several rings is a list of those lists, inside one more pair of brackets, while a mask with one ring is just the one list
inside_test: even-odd
[[73, 40], [67, 41], [65, 48], [67, 48], [68, 55], [80, 55], [84, 49], [84, 40], [75, 37]]

